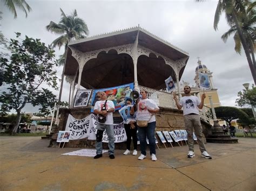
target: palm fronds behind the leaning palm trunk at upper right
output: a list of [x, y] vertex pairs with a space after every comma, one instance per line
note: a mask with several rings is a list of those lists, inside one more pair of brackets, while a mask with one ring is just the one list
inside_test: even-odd
[[[256, 27], [254, 26], [256, 22], [256, 14], [255, 14], [256, 11], [254, 9], [255, 6], [256, 6], [256, 2], [251, 3], [250, 6], [247, 6], [245, 12], [238, 12], [238, 17], [237, 17], [241, 25], [242, 34], [244, 35], [246, 40], [246, 45], [252, 56], [252, 62], [253, 62], [254, 68], [256, 68], [255, 58], [254, 58], [254, 52], [256, 48], [256, 41], [255, 41]], [[233, 37], [235, 41], [234, 49], [235, 49], [235, 52], [241, 54], [241, 40], [239, 38], [237, 26], [232, 21], [229, 24], [231, 26], [230, 30], [225, 32], [223, 36], [221, 36], [221, 39], [223, 39], [223, 41], [226, 43], [227, 38], [234, 33], [234, 37]]]

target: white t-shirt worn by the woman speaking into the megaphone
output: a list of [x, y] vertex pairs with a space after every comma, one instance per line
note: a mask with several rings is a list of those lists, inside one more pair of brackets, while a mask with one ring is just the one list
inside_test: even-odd
[[137, 103], [136, 120], [149, 121], [150, 119], [149, 123], [156, 121], [156, 117], [154, 117], [154, 115], [151, 114], [151, 112], [149, 112], [147, 108], [159, 109], [157, 104], [153, 100], [149, 98], [146, 98], [144, 100], [140, 99], [139, 103]]

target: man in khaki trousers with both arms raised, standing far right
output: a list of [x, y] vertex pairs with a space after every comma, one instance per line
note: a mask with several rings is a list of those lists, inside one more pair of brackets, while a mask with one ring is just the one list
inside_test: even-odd
[[203, 141], [203, 132], [202, 126], [200, 122], [199, 109], [203, 108], [205, 94], [201, 96], [201, 102], [199, 98], [196, 96], [192, 96], [190, 94], [191, 87], [185, 86], [184, 93], [185, 96], [181, 97], [180, 101], [178, 101], [176, 93], [173, 92], [173, 99], [176, 102], [177, 108], [180, 110], [183, 108], [185, 129], [187, 131], [187, 142], [188, 142], [188, 154], [187, 158], [193, 158], [194, 155], [194, 140], [193, 140], [193, 128], [196, 133], [199, 148], [201, 151], [202, 157], [206, 159], [212, 159], [211, 155], [207, 153], [206, 147]]

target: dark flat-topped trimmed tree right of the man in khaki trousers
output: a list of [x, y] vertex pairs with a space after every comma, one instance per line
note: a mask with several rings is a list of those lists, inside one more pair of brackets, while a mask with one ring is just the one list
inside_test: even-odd
[[217, 107], [214, 108], [216, 117], [225, 120], [230, 124], [233, 119], [248, 119], [249, 116], [242, 110], [235, 107]]

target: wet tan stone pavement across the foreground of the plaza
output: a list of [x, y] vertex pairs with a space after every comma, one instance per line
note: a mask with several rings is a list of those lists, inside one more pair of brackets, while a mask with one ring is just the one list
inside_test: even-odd
[[256, 190], [255, 142], [206, 144], [213, 159], [188, 159], [187, 146], [160, 148], [158, 160], [61, 155], [80, 148], [48, 148], [39, 137], [0, 137], [0, 190]]

